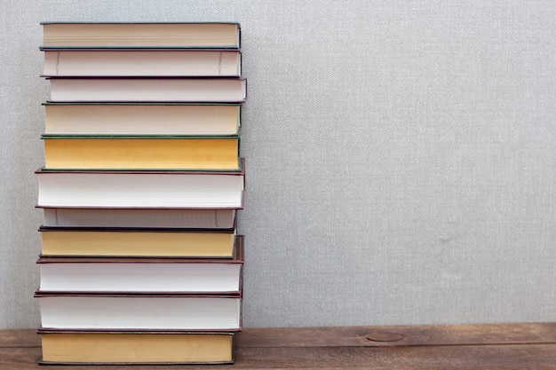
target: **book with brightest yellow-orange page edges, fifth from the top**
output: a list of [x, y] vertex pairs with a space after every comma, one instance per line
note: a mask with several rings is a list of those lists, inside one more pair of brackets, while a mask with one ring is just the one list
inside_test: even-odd
[[43, 135], [45, 169], [239, 169], [237, 135]]

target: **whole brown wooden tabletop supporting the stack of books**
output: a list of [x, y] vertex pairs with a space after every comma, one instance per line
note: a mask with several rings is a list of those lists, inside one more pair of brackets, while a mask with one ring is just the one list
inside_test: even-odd
[[35, 330], [0, 330], [0, 369], [556, 369], [556, 322], [245, 328], [236, 347], [234, 365], [39, 366]]

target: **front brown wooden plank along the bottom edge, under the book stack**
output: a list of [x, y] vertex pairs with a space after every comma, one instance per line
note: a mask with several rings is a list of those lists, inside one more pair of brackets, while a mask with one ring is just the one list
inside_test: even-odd
[[[0, 348], [0, 369], [43, 369], [40, 349]], [[75, 366], [55, 366], [56, 370]], [[152, 369], [154, 366], [86, 366], [88, 370]], [[156, 366], [170, 370], [177, 366]], [[187, 366], [200, 369], [504, 369], [556, 368], [555, 344], [409, 346], [409, 347], [250, 347], [239, 348], [233, 366]]]

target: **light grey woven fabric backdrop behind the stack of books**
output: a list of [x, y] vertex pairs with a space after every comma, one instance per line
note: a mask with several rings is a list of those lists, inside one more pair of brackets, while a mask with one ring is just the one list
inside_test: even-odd
[[36, 327], [41, 20], [242, 24], [246, 327], [556, 320], [556, 2], [10, 1], [0, 327]]

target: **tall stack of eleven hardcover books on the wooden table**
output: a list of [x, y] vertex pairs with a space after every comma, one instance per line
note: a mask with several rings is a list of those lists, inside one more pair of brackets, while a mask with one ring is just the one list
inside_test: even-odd
[[42, 363], [231, 363], [238, 23], [44, 22]]

